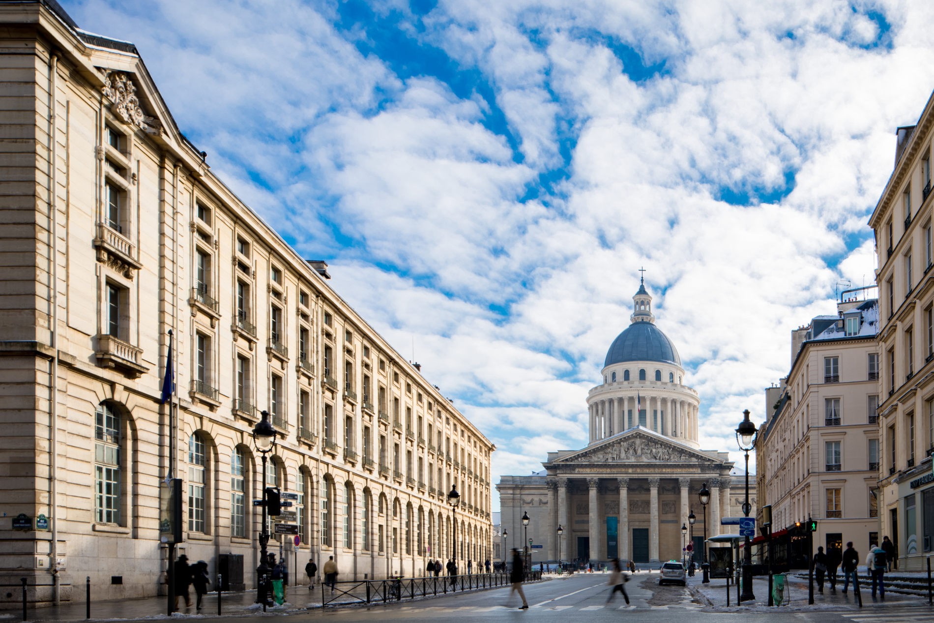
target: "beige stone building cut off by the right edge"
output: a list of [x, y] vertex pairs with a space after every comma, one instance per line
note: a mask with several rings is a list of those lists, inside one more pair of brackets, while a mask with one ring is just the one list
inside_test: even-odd
[[934, 551], [934, 97], [899, 128], [895, 167], [872, 212], [879, 267], [879, 514], [903, 569]]

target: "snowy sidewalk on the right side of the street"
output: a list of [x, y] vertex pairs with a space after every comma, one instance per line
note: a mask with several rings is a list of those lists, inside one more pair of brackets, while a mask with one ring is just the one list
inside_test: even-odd
[[[723, 579], [711, 580], [710, 584], [701, 583], [701, 573], [694, 577], [687, 578], [687, 586], [708, 606], [718, 612], [732, 612], [737, 609], [736, 585], [730, 581], [729, 585], [729, 608], [727, 607], [727, 581]], [[896, 593], [886, 593], [885, 600], [873, 602], [870, 593], [870, 587], [860, 583], [860, 593], [863, 599], [863, 609], [884, 607], [886, 605], [927, 605], [927, 599], [921, 600], [918, 597], [909, 595], [899, 595]], [[785, 604], [781, 606], [769, 607], [769, 578], [756, 576], [753, 578], [753, 593], [756, 600], [753, 602], [743, 602], [739, 606], [743, 612], [773, 612], [775, 608], [782, 612], [789, 611], [811, 611], [811, 610], [859, 610], [859, 604], [856, 602], [856, 595], [853, 587], [844, 595], [842, 583], [836, 591], [830, 590], [825, 585], [824, 592], [817, 592], [817, 586], [814, 585], [814, 605], [808, 603], [808, 583], [807, 580], [801, 581], [799, 578], [791, 575], [787, 578], [785, 584]]]

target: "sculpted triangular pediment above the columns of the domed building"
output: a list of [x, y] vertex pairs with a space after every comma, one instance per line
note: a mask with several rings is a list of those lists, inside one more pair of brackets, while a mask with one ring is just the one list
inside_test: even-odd
[[717, 452], [686, 446], [641, 426], [620, 432], [599, 444], [556, 458], [551, 463], [724, 463]]

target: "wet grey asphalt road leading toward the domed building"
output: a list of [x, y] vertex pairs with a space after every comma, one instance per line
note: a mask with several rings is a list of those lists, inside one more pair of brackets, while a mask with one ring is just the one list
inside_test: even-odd
[[[474, 621], [521, 621], [533, 617], [536, 620], [565, 620], [573, 616], [576, 620], [587, 623], [601, 621], [646, 621], [662, 622], [672, 620], [707, 620], [736, 621], [736, 623], [757, 623], [769, 621], [814, 621], [814, 623], [887, 623], [931, 621], [932, 611], [923, 608], [886, 608], [871, 611], [831, 613], [819, 612], [781, 612], [772, 610], [768, 613], [743, 612], [723, 613], [704, 612], [701, 604], [691, 601], [686, 588], [658, 587], [658, 575], [632, 576], [626, 585], [630, 595], [627, 605], [618, 593], [613, 602], [606, 602], [610, 588], [606, 586], [607, 575], [603, 573], [575, 574], [569, 578], [554, 579], [525, 586], [526, 598], [530, 608], [519, 610], [521, 605], [517, 595], [510, 596], [509, 588], [496, 588], [473, 593], [457, 593], [445, 597], [436, 597], [416, 602], [403, 602], [389, 605], [336, 607], [309, 610], [306, 613], [291, 615], [301, 620], [344, 621], [437, 621], [438, 619], [456, 619], [458, 623]], [[205, 617], [208, 618], [208, 617]], [[267, 616], [238, 617], [239, 620], [262, 621]]]

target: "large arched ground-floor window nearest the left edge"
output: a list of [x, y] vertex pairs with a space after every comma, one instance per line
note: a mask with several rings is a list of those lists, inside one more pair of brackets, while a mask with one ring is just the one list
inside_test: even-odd
[[112, 404], [101, 403], [94, 420], [94, 521], [122, 525], [120, 413]]

